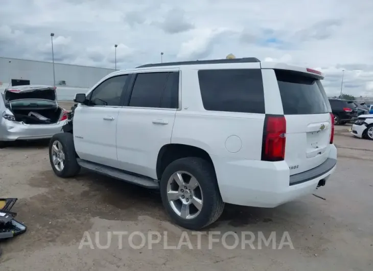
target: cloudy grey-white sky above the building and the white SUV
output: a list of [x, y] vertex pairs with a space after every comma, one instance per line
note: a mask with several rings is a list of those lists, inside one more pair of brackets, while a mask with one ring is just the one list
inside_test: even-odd
[[373, 1], [1, 0], [0, 56], [121, 69], [258, 57], [321, 70], [328, 95], [373, 96]]

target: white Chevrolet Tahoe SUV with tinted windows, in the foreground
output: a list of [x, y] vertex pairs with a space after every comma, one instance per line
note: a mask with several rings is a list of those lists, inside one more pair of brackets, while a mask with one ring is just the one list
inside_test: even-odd
[[80, 168], [159, 189], [179, 225], [224, 204], [276, 207], [325, 185], [337, 162], [331, 107], [315, 70], [257, 58], [113, 72], [50, 142], [56, 175]]

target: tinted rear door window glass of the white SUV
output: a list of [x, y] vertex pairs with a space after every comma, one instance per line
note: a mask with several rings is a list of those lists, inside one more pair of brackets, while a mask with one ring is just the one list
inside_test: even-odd
[[129, 106], [177, 108], [179, 73], [137, 74]]

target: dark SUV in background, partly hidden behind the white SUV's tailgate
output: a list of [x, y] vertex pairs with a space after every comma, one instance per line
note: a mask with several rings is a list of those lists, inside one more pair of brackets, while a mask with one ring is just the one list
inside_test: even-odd
[[358, 116], [358, 109], [354, 101], [341, 99], [329, 99], [334, 115], [334, 124], [345, 124], [351, 122]]

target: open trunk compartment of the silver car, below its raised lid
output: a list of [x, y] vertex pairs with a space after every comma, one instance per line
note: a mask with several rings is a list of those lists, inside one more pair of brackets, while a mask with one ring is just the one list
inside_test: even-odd
[[59, 107], [53, 109], [22, 108], [11, 109], [11, 111], [16, 121], [26, 124], [53, 124], [58, 122], [62, 115], [62, 109]]

